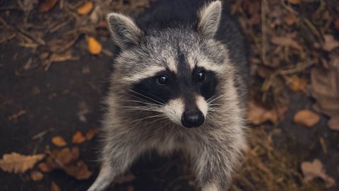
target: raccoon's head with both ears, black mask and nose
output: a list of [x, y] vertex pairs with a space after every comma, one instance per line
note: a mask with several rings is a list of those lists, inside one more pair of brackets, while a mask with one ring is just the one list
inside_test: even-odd
[[114, 93], [129, 98], [124, 105], [160, 112], [143, 119], [203, 125], [218, 108], [211, 101], [224, 94], [218, 86], [231, 83], [227, 49], [214, 39], [221, 10], [221, 2], [214, 1], [201, 8], [196, 23], [145, 31], [128, 16], [109, 13], [109, 30], [121, 50], [113, 66]]

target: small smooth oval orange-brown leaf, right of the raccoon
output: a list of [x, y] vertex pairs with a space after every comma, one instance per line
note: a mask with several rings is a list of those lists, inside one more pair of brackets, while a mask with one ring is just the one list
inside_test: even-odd
[[297, 124], [304, 125], [306, 127], [313, 127], [319, 122], [320, 117], [318, 114], [311, 112], [310, 110], [300, 110], [295, 114], [293, 120]]

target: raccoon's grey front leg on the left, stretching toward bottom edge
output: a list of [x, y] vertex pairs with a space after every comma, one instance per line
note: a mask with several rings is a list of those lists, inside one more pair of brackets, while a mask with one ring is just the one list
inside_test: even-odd
[[100, 173], [88, 191], [105, 190], [114, 178], [124, 173], [143, 151], [140, 145], [131, 145], [132, 141], [121, 143], [119, 140], [114, 140], [112, 142], [115, 144], [107, 144], [102, 152], [103, 160]]

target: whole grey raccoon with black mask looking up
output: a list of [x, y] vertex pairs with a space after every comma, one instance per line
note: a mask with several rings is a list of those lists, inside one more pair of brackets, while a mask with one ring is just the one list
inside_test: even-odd
[[[225, 3], [225, 2], [224, 2]], [[222, 1], [158, 0], [107, 15], [114, 58], [102, 123], [105, 190], [148, 151], [179, 151], [203, 191], [227, 190], [247, 149], [248, 48]]]

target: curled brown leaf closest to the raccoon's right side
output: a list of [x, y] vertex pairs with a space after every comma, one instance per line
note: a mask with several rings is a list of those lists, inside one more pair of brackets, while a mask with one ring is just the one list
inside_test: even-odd
[[277, 122], [278, 114], [275, 110], [267, 110], [263, 108], [261, 105], [254, 103], [254, 101], [249, 102], [249, 112], [248, 112], [249, 122], [254, 125], [259, 125], [263, 122]]

